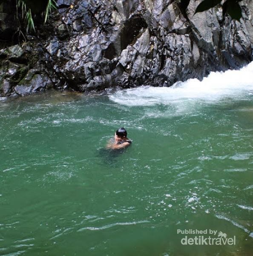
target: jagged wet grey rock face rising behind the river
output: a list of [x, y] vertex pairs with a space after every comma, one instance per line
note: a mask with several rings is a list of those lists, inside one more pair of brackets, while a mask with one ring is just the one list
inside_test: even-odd
[[186, 10], [182, 1], [58, 0], [47, 39], [28, 42], [26, 50], [0, 51], [9, 61], [7, 71], [23, 79], [9, 74], [1, 80], [0, 70], [0, 80], [7, 79], [2, 94], [170, 86], [253, 60], [251, 0], [240, 2], [240, 22], [218, 8], [194, 15], [201, 0], [190, 0]]

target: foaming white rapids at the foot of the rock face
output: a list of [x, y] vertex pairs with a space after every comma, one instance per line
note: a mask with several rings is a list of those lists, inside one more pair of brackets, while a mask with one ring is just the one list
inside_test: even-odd
[[202, 81], [189, 79], [172, 87], [141, 86], [118, 90], [109, 95], [112, 101], [127, 106], [150, 106], [199, 100], [217, 101], [253, 95], [253, 62], [241, 70], [212, 72]]

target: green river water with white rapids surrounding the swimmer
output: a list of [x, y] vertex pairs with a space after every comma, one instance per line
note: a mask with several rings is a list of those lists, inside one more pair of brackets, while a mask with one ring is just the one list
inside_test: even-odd
[[252, 255], [252, 77], [2, 98], [0, 255]]

